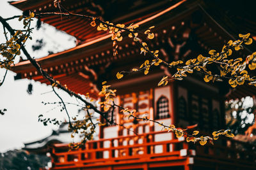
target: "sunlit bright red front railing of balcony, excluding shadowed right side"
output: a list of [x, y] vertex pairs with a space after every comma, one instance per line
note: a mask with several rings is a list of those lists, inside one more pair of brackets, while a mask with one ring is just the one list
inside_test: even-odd
[[[67, 145], [57, 144], [52, 150], [54, 168], [78, 167], [92, 164], [116, 164], [116, 162], [145, 162], [149, 159], [185, 159], [188, 143], [183, 139], [156, 141], [159, 135], [170, 136], [166, 131], [150, 132], [134, 136], [88, 141], [85, 147], [69, 151]], [[163, 136], [162, 136], [163, 138]], [[184, 150], [185, 149], [185, 150]]]

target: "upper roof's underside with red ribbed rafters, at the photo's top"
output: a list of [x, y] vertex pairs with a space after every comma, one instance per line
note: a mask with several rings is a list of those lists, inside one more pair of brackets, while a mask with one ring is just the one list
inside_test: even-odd
[[[10, 2], [13, 6], [22, 11], [30, 10], [36, 12], [60, 12], [60, 9], [55, 8], [53, 0], [34, 1], [20, 0]], [[111, 22], [138, 22], [145, 17], [149, 17], [157, 11], [163, 9], [163, 6], [173, 4], [170, 1], [88, 1], [88, 0], [61, 0], [61, 6], [72, 13], [82, 15], [90, 15], [101, 17], [103, 20], [111, 20]], [[122, 8], [120, 8], [122, 6]], [[124, 8], [125, 6], [125, 8]], [[140, 10], [138, 10], [140, 9]], [[62, 11], [65, 12], [65, 11]], [[143, 15], [141, 15], [143, 13]], [[124, 16], [124, 17], [121, 17]], [[139, 16], [139, 17], [138, 17]], [[43, 22], [50, 24], [61, 31], [75, 36], [80, 41], [92, 41], [97, 39], [106, 32], [97, 31], [96, 27], [90, 25], [90, 21], [79, 17], [60, 17], [60, 16], [42, 16]]]

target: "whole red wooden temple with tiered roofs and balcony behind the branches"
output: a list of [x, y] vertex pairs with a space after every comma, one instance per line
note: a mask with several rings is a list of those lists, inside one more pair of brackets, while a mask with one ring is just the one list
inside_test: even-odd
[[[58, 11], [52, 1], [22, 0], [11, 2], [20, 10]], [[116, 23], [140, 25], [144, 31], [155, 25], [155, 36], [148, 45], [159, 49], [166, 61], [187, 60], [199, 53], [207, 54], [232, 34], [221, 27], [197, 1], [78, 1], [62, 0], [73, 13], [102, 17]], [[75, 36], [81, 43], [64, 52], [37, 59], [56, 80], [80, 94], [90, 92], [97, 98], [102, 81], [108, 81], [118, 96], [115, 101], [125, 108], [136, 109], [138, 116], [187, 128], [198, 124], [200, 132], [208, 134], [225, 128], [225, 99], [228, 92], [223, 83], [205, 83], [200, 75], [173, 81], [157, 87], [166, 67], [154, 67], [145, 76], [136, 73], [116, 80], [118, 71], [128, 70], [145, 60], [140, 48], [128, 37], [118, 43], [118, 55], [113, 56], [110, 35], [97, 31], [82, 18], [47, 16], [41, 20]], [[239, 55], [250, 53], [250, 49]], [[15, 64], [16, 78], [29, 78], [48, 83], [29, 61]], [[229, 98], [255, 93], [255, 88], [230, 91]], [[51, 148], [51, 169], [255, 169], [255, 146], [234, 139], [220, 139], [214, 145], [200, 146], [175, 138], [152, 122], [132, 122], [116, 110], [115, 121], [124, 124], [135, 135], [120, 126], [100, 127], [99, 140], [88, 141], [79, 150], [68, 151], [68, 144]]]

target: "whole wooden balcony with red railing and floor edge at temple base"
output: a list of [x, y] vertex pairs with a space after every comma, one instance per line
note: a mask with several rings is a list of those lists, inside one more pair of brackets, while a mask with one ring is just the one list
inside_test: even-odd
[[[222, 145], [194, 145], [184, 138], [155, 141], [166, 131], [138, 136], [88, 141], [84, 148], [68, 151], [67, 144], [57, 144], [52, 150], [51, 169], [254, 169], [255, 146], [234, 140], [221, 140]], [[169, 133], [170, 134], [170, 133]], [[170, 134], [171, 135], [171, 134]], [[254, 148], [253, 148], [254, 147]]]

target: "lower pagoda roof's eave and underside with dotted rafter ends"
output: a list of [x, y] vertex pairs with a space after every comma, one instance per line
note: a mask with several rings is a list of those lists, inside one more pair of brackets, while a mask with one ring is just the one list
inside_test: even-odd
[[[49, 3], [49, 1], [47, 2]], [[72, 2], [74, 3], [74, 1]], [[23, 9], [23, 7], [20, 6], [19, 8]], [[143, 16], [143, 20], [141, 20], [141, 17], [137, 18], [141, 20], [137, 23], [140, 25], [141, 29], [147, 29], [147, 27], [156, 25], [154, 29], [156, 38], [153, 39], [153, 41], [148, 41], [148, 45], [151, 46], [152, 49], [159, 49], [161, 52], [160, 56], [163, 56], [165, 60], [189, 59], [197, 56], [199, 53], [206, 55], [207, 50], [212, 48], [221, 50], [224, 43], [227, 43], [229, 39], [234, 39], [234, 36], [229, 34], [204, 10], [204, 8], [202, 8], [202, 6], [195, 2], [191, 3], [191, 1], [186, 2], [185, 0], [178, 1], [178, 3], [172, 4], [169, 8], [165, 7], [161, 12], [156, 13], [156, 11], [153, 11]], [[51, 24], [54, 25], [58, 22], [59, 21], [55, 21]], [[60, 24], [61, 23], [62, 22], [60, 22]], [[87, 26], [93, 29], [90, 24], [87, 24]], [[127, 67], [127, 64], [132, 64], [132, 62], [134, 64], [134, 60], [138, 63], [142, 61], [141, 58], [143, 57], [139, 57], [140, 49], [132, 43], [131, 39], [125, 36], [123, 41], [118, 43], [118, 55], [114, 57], [110, 40], [111, 35], [105, 33], [99, 34], [101, 34], [101, 36], [86, 41], [81, 45], [64, 52], [37, 59], [37, 61], [44, 69], [52, 74], [52, 76], [58, 77], [60, 74], [65, 74], [65, 77], [68, 78], [61, 80], [61, 83], [66, 83], [70, 78], [70, 82], [72, 82], [70, 87], [74, 88], [70, 89], [76, 92], [80, 90], [78, 90], [78, 86], [76, 87], [77, 80], [74, 79], [73, 76], [68, 75], [75, 73], [88, 74], [88, 72], [92, 73], [95, 71], [94, 73], [99, 76], [102, 71], [104, 72], [106, 70], [109, 64], [114, 64], [114, 66], [119, 66], [124, 69], [124, 67]], [[250, 50], [246, 49], [243, 53], [236, 52], [236, 55], [246, 57], [249, 53]], [[117, 63], [118, 65], [115, 65]], [[45, 83], [42, 77], [37, 78], [37, 72], [35, 68], [29, 64], [29, 61], [19, 62], [15, 67], [12, 67], [12, 70], [18, 73], [20, 78], [33, 78], [34, 80]], [[94, 76], [90, 76], [91, 80], [92, 77], [95, 78], [95, 74], [93, 75]], [[93, 83], [95, 81], [97, 81], [97, 76], [95, 80], [93, 80]], [[228, 94], [227, 99], [252, 96], [252, 94], [255, 93], [255, 87], [237, 87], [236, 90]]]

